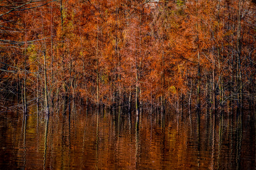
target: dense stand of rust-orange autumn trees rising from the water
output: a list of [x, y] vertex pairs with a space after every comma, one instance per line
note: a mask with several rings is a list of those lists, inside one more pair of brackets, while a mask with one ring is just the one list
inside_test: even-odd
[[24, 112], [250, 108], [255, 66], [254, 0], [0, 1], [0, 100]]

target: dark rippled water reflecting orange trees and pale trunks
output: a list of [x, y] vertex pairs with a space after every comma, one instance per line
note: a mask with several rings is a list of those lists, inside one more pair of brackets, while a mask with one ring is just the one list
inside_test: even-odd
[[255, 118], [255, 110], [139, 118], [80, 106], [49, 117], [37, 108], [2, 112], [0, 170], [253, 170]]

